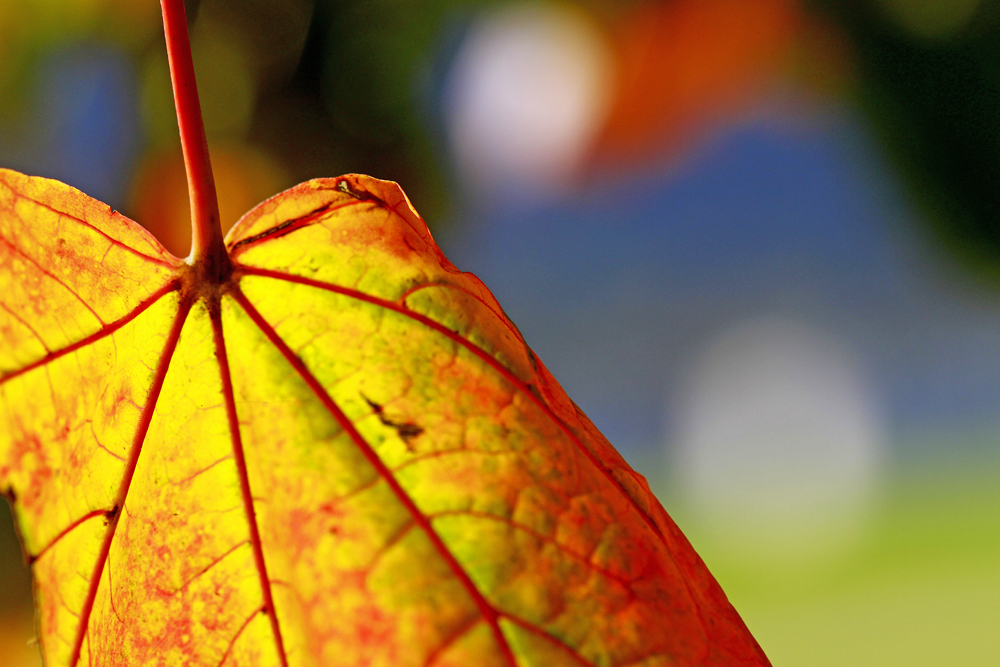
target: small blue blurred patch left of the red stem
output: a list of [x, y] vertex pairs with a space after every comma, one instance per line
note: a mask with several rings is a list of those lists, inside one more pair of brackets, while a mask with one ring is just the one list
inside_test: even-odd
[[54, 51], [37, 64], [28, 128], [0, 136], [0, 162], [121, 209], [142, 148], [138, 103], [128, 53], [108, 45]]

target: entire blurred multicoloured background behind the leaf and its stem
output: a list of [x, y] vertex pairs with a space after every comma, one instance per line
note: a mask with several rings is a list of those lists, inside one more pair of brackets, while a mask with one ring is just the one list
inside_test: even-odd
[[[1000, 2], [188, 8], [227, 226], [400, 182], [776, 666], [1000, 664]], [[0, 165], [183, 256], [173, 114], [156, 0], [0, 0]]]

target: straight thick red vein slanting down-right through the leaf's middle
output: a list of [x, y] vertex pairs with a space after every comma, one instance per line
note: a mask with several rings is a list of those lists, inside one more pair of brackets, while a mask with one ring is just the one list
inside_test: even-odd
[[243, 292], [238, 288], [234, 289], [232, 296], [240, 304], [243, 310], [246, 311], [247, 315], [250, 316], [250, 319], [254, 321], [268, 340], [271, 341], [278, 351], [281, 352], [282, 356], [285, 357], [288, 363], [291, 364], [292, 368], [295, 369], [295, 372], [298, 373], [299, 376], [305, 381], [320, 402], [323, 403], [323, 406], [327, 409], [327, 411], [329, 411], [333, 418], [337, 420], [337, 423], [350, 436], [351, 440], [354, 441], [354, 444], [361, 451], [362, 455], [368, 460], [369, 464], [371, 464], [371, 466], [375, 468], [376, 472], [378, 472], [379, 476], [386, 481], [386, 484], [388, 484], [389, 488], [392, 489], [393, 495], [396, 496], [396, 499], [410, 513], [410, 516], [413, 517], [413, 521], [424, 531], [435, 550], [448, 565], [448, 568], [452, 571], [452, 574], [461, 582], [470, 597], [472, 597], [473, 602], [479, 609], [480, 615], [486, 620], [487, 623], [489, 623], [490, 629], [493, 631], [494, 639], [496, 640], [497, 645], [500, 648], [500, 652], [503, 654], [507, 664], [511, 667], [516, 667], [517, 662], [514, 659], [514, 654], [511, 651], [510, 644], [507, 643], [507, 639], [504, 637], [503, 631], [500, 629], [500, 623], [498, 621], [499, 613], [486, 600], [486, 598], [483, 597], [483, 594], [476, 587], [475, 583], [473, 583], [469, 573], [465, 571], [462, 565], [455, 558], [455, 555], [451, 553], [450, 549], [448, 549], [444, 540], [441, 539], [441, 536], [434, 530], [434, 527], [431, 525], [427, 516], [420, 510], [419, 507], [417, 507], [413, 498], [411, 498], [406, 490], [403, 489], [389, 468], [385, 465], [382, 459], [379, 458], [378, 454], [375, 453], [375, 450], [372, 449], [372, 446], [368, 444], [368, 441], [365, 440], [361, 433], [358, 432], [358, 429], [354, 426], [351, 420], [347, 418], [347, 415], [345, 415], [340, 409], [340, 406], [334, 402], [333, 398], [330, 397], [330, 394], [327, 393], [323, 385], [319, 383], [316, 376], [314, 376], [309, 369], [306, 368], [306, 365], [302, 362], [298, 355], [296, 355], [291, 348], [288, 347], [285, 341], [281, 339], [274, 327], [272, 327], [261, 316], [257, 309], [254, 308], [253, 304], [247, 300]]

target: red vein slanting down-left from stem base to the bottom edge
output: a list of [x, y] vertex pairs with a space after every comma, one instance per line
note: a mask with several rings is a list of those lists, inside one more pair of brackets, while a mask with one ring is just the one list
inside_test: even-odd
[[69, 660], [70, 667], [76, 667], [76, 664], [80, 661], [80, 650], [83, 648], [83, 640], [87, 635], [90, 625], [90, 614], [94, 609], [94, 601], [97, 599], [97, 589], [101, 583], [101, 573], [104, 571], [104, 563], [108, 559], [108, 554], [111, 553], [111, 542], [115, 538], [115, 529], [118, 527], [118, 521], [125, 507], [125, 499], [132, 484], [132, 477], [135, 475], [135, 468], [139, 463], [142, 443], [145, 441], [149, 425], [153, 421], [153, 411], [156, 409], [160, 390], [163, 389], [163, 381], [167, 377], [167, 368], [170, 367], [170, 359], [174, 355], [174, 350], [177, 349], [177, 341], [180, 339], [181, 329], [184, 327], [184, 321], [187, 319], [187, 314], [190, 310], [191, 303], [182, 300], [180, 307], [177, 309], [177, 315], [174, 317], [174, 322], [170, 327], [170, 333], [167, 334], [163, 351], [160, 353], [160, 360], [156, 364], [153, 383], [149, 388], [149, 395], [146, 398], [146, 404], [142, 408], [142, 414], [139, 415], [139, 423], [136, 426], [135, 436], [132, 439], [132, 448], [129, 451], [125, 473], [122, 476], [121, 484], [118, 486], [118, 493], [115, 495], [115, 509], [112, 510], [115, 512], [115, 515], [108, 522], [108, 530], [104, 534], [104, 542], [101, 544], [97, 562], [94, 564], [94, 573], [90, 577], [90, 588], [87, 590], [87, 597], [84, 599], [83, 608], [80, 610], [80, 625], [77, 628], [76, 639], [73, 642], [73, 652]]

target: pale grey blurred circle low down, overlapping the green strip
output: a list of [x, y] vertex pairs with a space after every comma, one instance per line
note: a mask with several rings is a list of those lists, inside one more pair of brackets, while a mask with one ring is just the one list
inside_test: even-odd
[[706, 345], [681, 393], [674, 477], [700, 529], [748, 562], [856, 546], [885, 429], [846, 346], [800, 322], [743, 322]]

